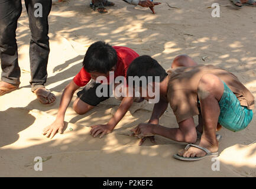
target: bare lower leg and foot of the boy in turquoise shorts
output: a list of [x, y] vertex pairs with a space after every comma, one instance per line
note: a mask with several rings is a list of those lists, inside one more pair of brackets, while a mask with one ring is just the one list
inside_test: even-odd
[[[203, 134], [199, 146], [209, 149], [211, 152], [218, 151], [216, 139], [216, 127], [219, 119], [219, 100], [221, 100], [224, 86], [219, 77], [212, 74], [205, 74], [198, 85], [198, 97], [203, 119]], [[205, 151], [199, 148], [190, 147], [187, 151], [181, 152], [183, 157], [203, 157]]]

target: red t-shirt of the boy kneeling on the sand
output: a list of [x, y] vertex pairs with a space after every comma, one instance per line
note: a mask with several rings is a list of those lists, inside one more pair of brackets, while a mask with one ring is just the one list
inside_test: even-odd
[[[114, 78], [118, 76], [127, 76], [127, 70], [129, 67], [129, 64], [132, 63], [132, 61], [137, 58], [139, 55], [128, 47], [113, 47], [116, 51], [118, 61], [116, 63], [116, 70], [114, 71]], [[73, 81], [76, 83], [77, 86], [83, 87], [86, 86], [88, 82], [90, 82], [90, 74], [82, 67], [82, 69], [79, 71], [79, 73], [74, 77]], [[108, 77], [108, 83], [109, 83], [109, 77]]]

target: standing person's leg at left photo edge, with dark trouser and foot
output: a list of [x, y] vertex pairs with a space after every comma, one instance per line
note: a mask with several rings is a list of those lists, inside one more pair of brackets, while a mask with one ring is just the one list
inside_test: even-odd
[[[18, 47], [16, 43], [17, 21], [21, 15], [21, 1], [0, 0], [0, 59], [2, 89], [17, 89], [21, 70], [18, 66]], [[0, 96], [6, 91], [1, 90]]]

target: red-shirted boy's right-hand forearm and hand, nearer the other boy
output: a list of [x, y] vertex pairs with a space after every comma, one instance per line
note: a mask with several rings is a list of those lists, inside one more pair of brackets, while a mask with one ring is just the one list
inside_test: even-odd
[[106, 125], [92, 126], [90, 135], [96, 137], [101, 134], [99, 138], [102, 138], [106, 133], [111, 133], [119, 121], [124, 118], [125, 113], [127, 113], [133, 102], [133, 97], [124, 97], [114, 116], [109, 120], [109, 122]]

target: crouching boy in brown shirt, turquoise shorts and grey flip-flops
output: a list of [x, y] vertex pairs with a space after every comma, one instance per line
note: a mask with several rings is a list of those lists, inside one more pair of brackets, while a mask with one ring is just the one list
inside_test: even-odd
[[[155, 103], [148, 123], [141, 123], [132, 131], [138, 137], [161, 135], [178, 142], [189, 143], [174, 158], [196, 161], [218, 156], [217, 128], [237, 132], [246, 128], [252, 120], [254, 96], [229, 71], [212, 65], [197, 65], [188, 56], [174, 59], [166, 71], [149, 56], [135, 58], [127, 71], [129, 76], [158, 76], [159, 102]], [[154, 81], [154, 80], [153, 80]], [[153, 90], [155, 83], [152, 83]], [[152, 86], [151, 85], [151, 86]], [[148, 88], [148, 87], [147, 87]], [[140, 92], [146, 90], [140, 86]], [[153, 99], [148, 94], [144, 99]], [[170, 104], [179, 128], [158, 125], [159, 118]], [[193, 116], [199, 116], [196, 127]], [[202, 132], [199, 145], [195, 145], [197, 132]]]

